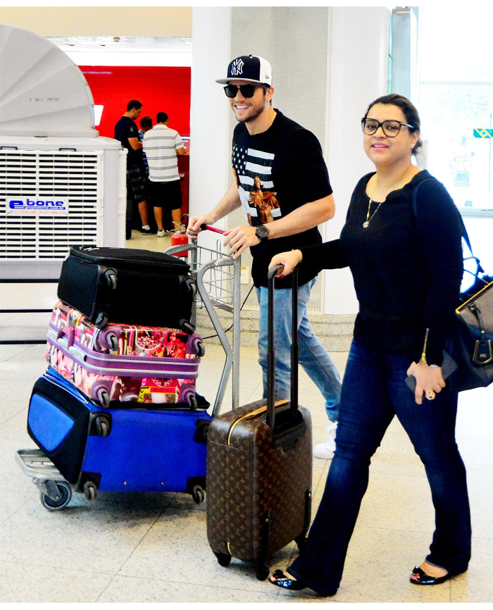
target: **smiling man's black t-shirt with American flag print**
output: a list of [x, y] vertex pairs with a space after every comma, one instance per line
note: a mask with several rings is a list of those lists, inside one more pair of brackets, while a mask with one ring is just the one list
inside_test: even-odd
[[[233, 135], [232, 166], [250, 225], [268, 223], [332, 193], [320, 142], [298, 123], [276, 110], [268, 130], [249, 135], [239, 123]], [[267, 286], [267, 270], [274, 254], [312, 246], [322, 241], [318, 228], [296, 235], [267, 239], [251, 247], [254, 285]], [[315, 269], [300, 268], [299, 283], [317, 275]], [[276, 280], [276, 287], [289, 287], [291, 278]]]

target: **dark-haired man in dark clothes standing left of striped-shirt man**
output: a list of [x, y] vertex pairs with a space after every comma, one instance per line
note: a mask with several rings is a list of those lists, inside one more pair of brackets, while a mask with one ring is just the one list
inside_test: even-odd
[[127, 213], [126, 238], [132, 237], [132, 211], [134, 204], [139, 208], [142, 220], [142, 233], [152, 233], [148, 220], [146, 201], [146, 168], [142, 156], [142, 142], [139, 141], [139, 130], [135, 119], [142, 112], [142, 104], [132, 99], [127, 104], [127, 112], [118, 119], [115, 125], [115, 139], [120, 140], [127, 149]]

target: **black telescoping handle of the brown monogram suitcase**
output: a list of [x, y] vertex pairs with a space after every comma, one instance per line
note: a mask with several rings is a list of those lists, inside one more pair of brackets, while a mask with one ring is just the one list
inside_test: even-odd
[[[275, 349], [274, 349], [274, 279], [282, 265], [268, 270], [268, 334], [267, 334], [267, 425], [272, 432], [275, 424]], [[292, 273], [292, 326], [291, 326], [291, 421], [297, 418], [298, 412], [298, 269]]]

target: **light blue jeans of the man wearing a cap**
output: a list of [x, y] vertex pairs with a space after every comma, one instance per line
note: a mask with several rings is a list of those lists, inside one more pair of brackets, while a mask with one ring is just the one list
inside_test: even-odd
[[[341, 382], [339, 372], [327, 350], [311, 332], [307, 309], [310, 290], [316, 280], [298, 288], [299, 363], [325, 398], [325, 410], [331, 421], [337, 420]], [[258, 362], [263, 369], [263, 397], [267, 397], [267, 288], [257, 288], [260, 304]], [[289, 399], [291, 378], [292, 290], [274, 291], [275, 398]], [[302, 403], [303, 401], [301, 401]]]

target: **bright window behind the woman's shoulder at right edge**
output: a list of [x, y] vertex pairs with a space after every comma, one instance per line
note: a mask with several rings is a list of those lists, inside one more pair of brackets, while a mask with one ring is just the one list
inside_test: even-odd
[[419, 101], [428, 170], [464, 215], [493, 216], [493, 8], [420, 8]]

